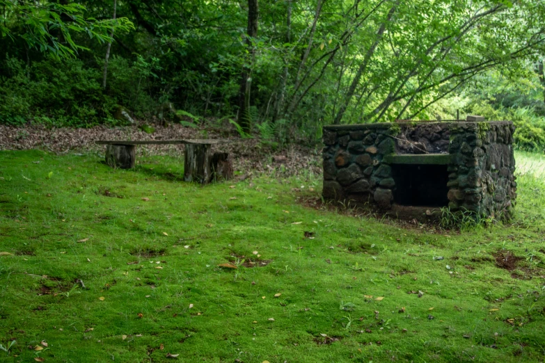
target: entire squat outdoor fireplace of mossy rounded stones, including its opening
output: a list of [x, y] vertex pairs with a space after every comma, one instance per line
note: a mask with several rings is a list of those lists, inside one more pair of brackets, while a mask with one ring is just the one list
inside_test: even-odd
[[436, 218], [448, 207], [509, 219], [514, 126], [473, 120], [324, 127], [324, 199], [399, 218]]

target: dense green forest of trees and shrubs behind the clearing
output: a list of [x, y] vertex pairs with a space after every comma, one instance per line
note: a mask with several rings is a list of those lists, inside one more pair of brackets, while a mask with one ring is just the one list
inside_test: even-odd
[[[545, 149], [545, 2], [0, 0], [0, 124], [516, 123]], [[125, 111], [125, 112], [123, 112]]]

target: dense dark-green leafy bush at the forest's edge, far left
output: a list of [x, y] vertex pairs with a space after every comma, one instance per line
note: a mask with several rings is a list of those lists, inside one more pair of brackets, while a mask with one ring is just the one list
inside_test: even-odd
[[50, 126], [91, 127], [115, 124], [111, 115], [116, 99], [104, 95], [101, 72], [75, 59], [47, 59], [26, 67], [7, 58], [7, 76], [0, 77], [0, 122], [28, 122]]

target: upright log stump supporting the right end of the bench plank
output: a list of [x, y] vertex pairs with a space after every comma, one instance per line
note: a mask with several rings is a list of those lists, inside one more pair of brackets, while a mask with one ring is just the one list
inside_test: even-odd
[[184, 162], [184, 181], [210, 183], [210, 144], [186, 144]]

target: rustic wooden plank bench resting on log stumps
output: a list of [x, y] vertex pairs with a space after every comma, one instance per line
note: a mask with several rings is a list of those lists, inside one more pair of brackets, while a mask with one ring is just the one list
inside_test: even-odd
[[231, 179], [232, 161], [226, 152], [212, 154], [210, 147], [227, 140], [147, 140], [116, 141], [99, 140], [98, 145], [106, 145], [106, 163], [112, 168], [134, 168], [136, 145], [185, 145], [184, 181], [210, 183], [213, 179]]

